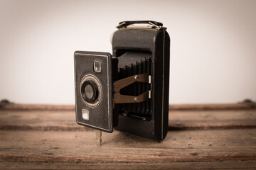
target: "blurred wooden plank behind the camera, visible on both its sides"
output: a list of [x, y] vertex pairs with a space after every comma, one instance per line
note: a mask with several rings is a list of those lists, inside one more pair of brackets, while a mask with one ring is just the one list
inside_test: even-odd
[[[169, 130], [255, 128], [256, 110], [169, 111]], [[0, 130], [90, 130], [75, 111], [0, 110]]]

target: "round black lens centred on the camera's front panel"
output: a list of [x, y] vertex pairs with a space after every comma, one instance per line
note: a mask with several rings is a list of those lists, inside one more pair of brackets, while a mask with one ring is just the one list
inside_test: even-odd
[[85, 99], [88, 103], [95, 103], [97, 100], [99, 91], [97, 84], [93, 80], [86, 80], [81, 87], [82, 98]]

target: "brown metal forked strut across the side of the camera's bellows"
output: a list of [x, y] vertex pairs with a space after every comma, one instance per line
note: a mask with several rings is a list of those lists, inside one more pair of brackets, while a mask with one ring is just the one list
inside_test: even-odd
[[151, 98], [151, 90], [140, 94], [139, 96], [128, 96], [120, 94], [120, 90], [135, 82], [149, 83], [151, 84], [151, 76], [149, 74], [137, 74], [125, 79], [114, 81], [114, 103], [140, 103], [149, 100]]

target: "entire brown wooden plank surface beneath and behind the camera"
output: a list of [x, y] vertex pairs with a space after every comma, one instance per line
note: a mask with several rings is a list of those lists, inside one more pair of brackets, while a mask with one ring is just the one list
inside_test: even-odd
[[256, 108], [173, 105], [162, 142], [75, 123], [74, 106], [0, 105], [0, 169], [256, 169]]

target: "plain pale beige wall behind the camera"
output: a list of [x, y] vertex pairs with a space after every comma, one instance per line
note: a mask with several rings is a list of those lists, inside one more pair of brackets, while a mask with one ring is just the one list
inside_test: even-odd
[[73, 104], [73, 52], [111, 52], [119, 21], [171, 36], [170, 103], [256, 100], [256, 1], [0, 1], [0, 100]]

